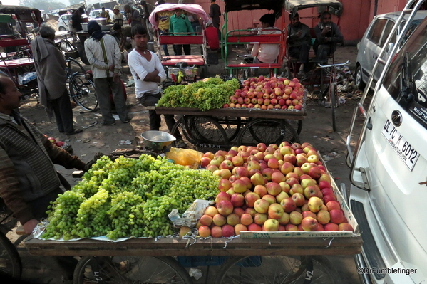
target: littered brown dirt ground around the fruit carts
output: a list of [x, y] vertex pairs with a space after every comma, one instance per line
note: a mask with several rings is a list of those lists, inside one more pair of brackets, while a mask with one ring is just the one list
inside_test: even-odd
[[[357, 50], [354, 46], [338, 48], [335, 53], [336, 63], [351, 61], [349, 67], [354, 71]], [[219, 65], [210, 65], [208, 75], [223, 73], [223, 64], [220, 60]], [[88, 65], [85, 68], [89, 68]], [[124, 69], [128, 70], [127, 68]], [[130, 74], [123, 74], [122, 79], [125, 83]], [[21, 106], [21, 113], [34, 123], [43, 133], [49, 137], [55, 137], [57, 140], [71, 144], [74, 154], [81, 157], [84, 162], [88, 162], [97, 152], [109, 153], [118, 148], [132, 148], [135, 144], [123, 145], [122, 140], [133, 141], [142, 132], [149, 130], [148, 111], [145, 107], [138, 104], [135, 99], [133, 87], [127, 88], [128, 91], [128, 111], [132, 120], [128, 124], [123, 124], [117, 120], [116, 125], [101, 126], [100, 112], [86, 112], [76, 107], [73, 115], [76, 121], [76, 127], [83, 127], [83, 132], [78, 135], [66, 136], [58, 132], [56, 122], [49, 121], [43, 107], [39, 105], [36, 98], [24, 100]], [[307, 117], [304, 119], [302, 132], [300, 134], [301, 142], [310, 142], [321, 154], [336, 153], [336, 157], [326, 162], [329, 171], [333, 174], [337, 184], [346, 184], [349, 189], [349, 168], [346, 167], [346, 137], [348, 135], [351, 116], [353, 115], [356, 102], [360, 93], [356, 90], [350, 93], [342, 93], [341, 96], [346, 102], [338, 109], [338, 131], [332, 130], [331, 109], [319, 105], [312, 100], [307, 101]], [[361, 121], [356, 127], [360, 127]], [[163, 122], [161, 130], [168, 131]], [[357, 133], [357, 132], [356, 132]], [[71, 184], [76, 184], [78, 179], [71, 177], [72, 170], [66, 170], [58, 167], [58, 171], [68, 179]], [[61, 283], [56, 263], [49, 257], [29, 256], [25, 249], [20, 249], [23, 258], [24, 272], [23, 278], [34, 281], [34, 283]], [[359, 277], [353, 261], [353, 256], [334, 256], [330, 260], [334, 263], [336, 270], [343, 278], [343, 283], [359, 283]]]

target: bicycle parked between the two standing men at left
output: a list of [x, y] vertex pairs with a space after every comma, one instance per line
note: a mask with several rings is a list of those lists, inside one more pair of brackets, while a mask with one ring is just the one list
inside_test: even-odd
[[[66, 76], [70, 98], [83, 110], [94, 111], [98, 107], [95, 85], [86, 76], [86, 70], [73, 58], [66, 60]], [[77, 70], [77, 71], [76, 71]]]

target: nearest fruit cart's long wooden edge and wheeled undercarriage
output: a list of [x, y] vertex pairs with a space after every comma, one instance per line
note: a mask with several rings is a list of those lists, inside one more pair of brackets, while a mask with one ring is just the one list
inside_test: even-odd
[[[192, 243], [191, 246], [188, 245], [189, 242]], [[286, 246], [284, 246], [284, 243], [286, 243]], [[287, 275], [287, 280], [299, 279], [303, 281], [304, 278], [310, 275], [314, 275], [314, 279], [316, 279], [321, 273], [322, 276], [327, 276], [327, 279], [331, 279], [331, 282], [328, 283], [338, 284], [341, 283], [339, 278], [329, 273], [331, 271], [329, 270], [330, 263], [324, 262], [324, 258], [319, 258], [318, 256], [354, 255], [360, 253], [361, 244], [360, 236], [328, 239], [301, 237], [235, 238], [232, 241], [227, 238], [208, 238], [204, 240], [198, 239], [197, 241], [185, 238], [133, 238], [122, 242], [95, 241], [91, 239], [41, 241], [37, 238], [32, 238], [26, 241], [26, 248], [34, 256], [82, 256], [74, 273], [74, 283], [83, 283], [83, 279], [89, 277], [88, 275], [85, 276], [88, 270], [93, 270], [93, 274], [97, 274], [96, 269], [94, 269], [96, 263], [99, 264], [98, 278], [101, 278], [101, 275], [105, 275], [106, 270], [103, 266], [107, 265], [106, 263], [109, 260], [109, 258], [106, 258], [107, 256], [114, 256], [115, 258], [113, 258], [113, 263], [116, 265], [110, 267], [111, 270], [114, 270], [110, 271], [110, 281], [113, 278], [116, 279], [115, 282], [109, 282], [106, 279], [103, 283], [142, 283], [138, 281], [131, 282], [130, 279], [138, 276], [138, 271], [135, 271], [137, 268], [141, 270], [140, 273], [142, 274], [143, 265], [148, 265], [147, 263], [153, 263], [156, 267], [155, 273], [163, 275], [165, 282], [162, 283], [192, 283], [187, 271], [174, 258], [175, 256], [185, 256], [185, 258], [181, 259], [193, 261], [196, 257], [206, 256], [205, 260], [210, 261], [211, 264], [216, 262], [214, 265], [217, 265], [219, 269], [217, 273], [211, 276], [212, 278], [217, 278], [215, 283], [230, 283], [230, 280], [222, 276], [229, 274], [231, 272], [229, 270], [234, 264], [243, 263], [242, 258], [252, 256], [251, 258], [246, 258], [247, 264], [242, 265], [244, 268], [245, 266], [247, 266], [247, 269], [264, 268], [264, 263], [274, 260], [274, 265], [269, 269], [274, 268], [276, 270], [276, 268], [280, 268], [279, 264], [283, 264], [281, 263], [283, 261], [292, 268], [292, 273]], [[192, 258], [189, 258], [190, 256]], [[132, 271], [128, 272], [126, 268], [121, 268], [120, 265], [127, 264], [127, 261], [132, 262]], [[219, 266], [218, 264], [220, 263], [222, 265]], [[89, 265], [92, 265], [91, 268], [89, 268]], [[152, 278], [154, 277], [152, 276]], [[260, 278], [262, 278], [262, 273], [260, 273]], [[101, 278], [101, 280], [103, 279]], [[307, 281], [304, 283], [319, 282]]]

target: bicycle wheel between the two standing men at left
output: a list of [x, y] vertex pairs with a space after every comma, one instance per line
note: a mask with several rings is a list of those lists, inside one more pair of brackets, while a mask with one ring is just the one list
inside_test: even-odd
[[84, 74], [72, 75], [68, 82], [68, 90], [73, 101], [80, 105], [83, 110], [93, 111], [98, 107], [95, 85], [91, 80], [86, 79]]

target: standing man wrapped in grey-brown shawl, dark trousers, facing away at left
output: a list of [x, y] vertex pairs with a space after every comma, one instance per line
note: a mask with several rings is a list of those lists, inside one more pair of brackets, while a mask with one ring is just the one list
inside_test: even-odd
[[55, 115], [59, 132], [65, 132], [66, 135], [80, 133], [82, 130], [73, 128], [73, 110], [66, 86], [66, 61], [53, 42], [55, 30], [43, 23], [39, 34], [31, 41], [31, 50], [40, 102], [46, 107], [49, 118]]

